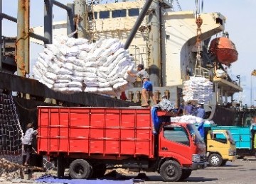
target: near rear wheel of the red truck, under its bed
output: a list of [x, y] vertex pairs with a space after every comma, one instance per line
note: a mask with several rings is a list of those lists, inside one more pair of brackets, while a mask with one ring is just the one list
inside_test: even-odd
[[92, 173], [92, 166], [83, 159], [76, 159], [70, 164], [70, 176], [73, 179], [87, 179]]

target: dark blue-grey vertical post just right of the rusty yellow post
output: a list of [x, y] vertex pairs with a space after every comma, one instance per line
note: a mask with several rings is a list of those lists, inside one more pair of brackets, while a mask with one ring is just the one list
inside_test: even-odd
[[44, 0], [44, 37], [53, 43], [53, 2]]

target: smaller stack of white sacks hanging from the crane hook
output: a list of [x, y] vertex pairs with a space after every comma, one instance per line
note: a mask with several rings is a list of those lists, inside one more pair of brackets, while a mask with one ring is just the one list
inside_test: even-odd
[[198, 100], [198, 103], [207, 103], [213, 96], [213, 83], [204, 77], [191, 76], [183, 83], [183, 100]]

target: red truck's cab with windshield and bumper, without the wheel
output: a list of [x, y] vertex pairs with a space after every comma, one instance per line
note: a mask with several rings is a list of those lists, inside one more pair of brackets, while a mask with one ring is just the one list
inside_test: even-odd
[[183, 165], [192, 161], [192, 170], [196, 170], [205, 167], [206, 144], [195, 125], [171, 122], [161, 128], [158, 154], [163, 158], [178, 158]]

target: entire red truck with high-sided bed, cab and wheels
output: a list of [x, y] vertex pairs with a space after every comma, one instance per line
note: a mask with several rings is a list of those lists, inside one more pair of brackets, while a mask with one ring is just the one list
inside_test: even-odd
[[57, 161], [58, 177], [104, 176], [106, 166], [156, 171], [184, 180], [206, 167], [206, 145], [195, 125], [170, 122], [154, 135], [150, 108], [38, 107], [38, 154]]

